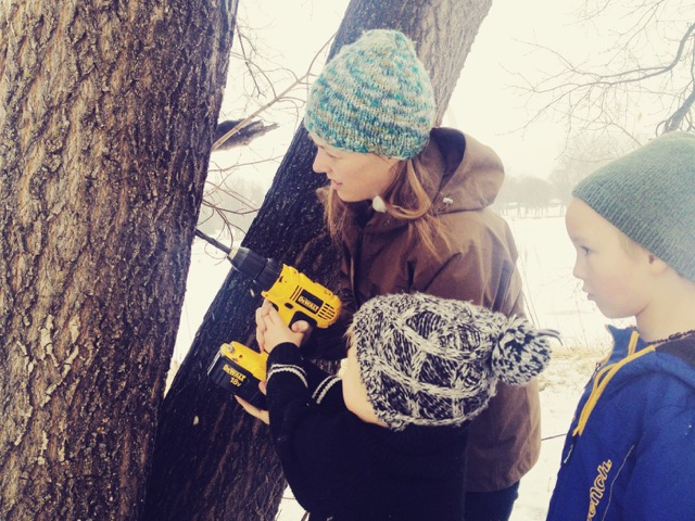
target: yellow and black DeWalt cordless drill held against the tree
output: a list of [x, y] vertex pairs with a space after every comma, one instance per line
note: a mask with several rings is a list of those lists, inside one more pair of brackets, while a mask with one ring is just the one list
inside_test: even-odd
[[[219, 243], [215, 245], [222, 246]], [[223, 246], [222, 250], [227, 253], [232, 267], [249, 277], [261, 294], [273, 303], [288, 326], [306, 320], [313, 327], [327, 328], [338, 320], [341, 307], [338, 296], [295, 268], [247, 247]], [[258, 353], [239, 342], [225, 343], [210, 365], [207, 376], [218, 385], [264, 409], [266, 402], [258, 390], [258, 382], [265, 380], [267, 358], [267, 353]]]

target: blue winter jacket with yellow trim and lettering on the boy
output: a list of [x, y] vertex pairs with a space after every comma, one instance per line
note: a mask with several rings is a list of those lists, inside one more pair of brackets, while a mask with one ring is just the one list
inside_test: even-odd
[[615, 346], [579, 402], [547, 519], [695, 520], [695, 342], [655, 348], [632, 329], [610, 330]]

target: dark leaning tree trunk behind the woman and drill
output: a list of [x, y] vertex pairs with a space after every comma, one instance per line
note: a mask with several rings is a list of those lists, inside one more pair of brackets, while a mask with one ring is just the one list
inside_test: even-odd
[[[399, 28], [416, 41], [439, 104], [446, 107], [491, 0], [353, 0], [331, 49], [369, 28]], [[334, 287], [338, 253], [331, 247], [312, 171], [314, 149], [300, 129], [285, 156], [244, 245], [295, 266]], [[285, 480], [267, 427], [247, 415], [206, 369], [223, 342], [253, 342], [258, 296], [230, 271], [203, 319], [164, 401], [144, 520], [271, 520]]]

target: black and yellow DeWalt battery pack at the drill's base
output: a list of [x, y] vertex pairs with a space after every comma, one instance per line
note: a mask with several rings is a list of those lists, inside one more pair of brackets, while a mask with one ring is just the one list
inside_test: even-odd
[[265, 380], [267, 359], [267, 353], [258, 353], [239, 342], [223, 344], [207, 376], [254, 407], [267, 409], [265, 395], [258, 389], [258, 382]]

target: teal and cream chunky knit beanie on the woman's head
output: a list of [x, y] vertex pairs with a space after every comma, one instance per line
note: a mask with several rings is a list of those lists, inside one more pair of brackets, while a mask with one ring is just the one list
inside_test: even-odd
[[413, 42], [374, 29], [324, 67], [304, 126], [340, 150], [406, 160], [425, 148], [433, 120], [434, 93]]

